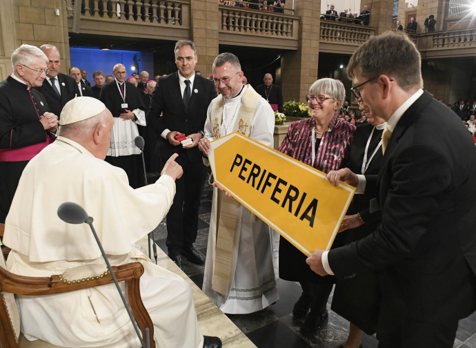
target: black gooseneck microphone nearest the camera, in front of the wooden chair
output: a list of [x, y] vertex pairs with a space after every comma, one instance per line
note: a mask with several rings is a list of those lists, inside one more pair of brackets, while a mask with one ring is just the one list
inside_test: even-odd
[[146, 343], [144, 343], [142, 340], [141, 331], [139, 331], [139, 327], [137, 327], [135, 318], [134, 316], [132, 316], [132, 312], [130, 311], [130, 308], [126, 302], [126, 298], [124, 298], [121, 288], [119, 287], [119, 282], [117, 282], [117, 278], [114, 272], [112, 271], [108, 257], [106, 256], [106, 253], [104, 253], [103, 246], [101, 245], [101, 242], [99, 242], [99, 238], [97, 237], [96, 230], [94, 226], [92, 226], [92, 220], [93, 220], [92, 217], [88, 216], [88, 213], [86, 213], [86, 211], [83, 209], [82, 206], [73, 202], [64, 202], [63, 204], [61, 204], [58, 208], [58, 216], [61, 220], [63, 220], [64, 222], [67, 222], [68, 224], [83, 224], [84, 222], [86, 222], [86, 224], [90, 226], [92, 234], [95, 236], [95, 240], [97, 242], [99, 250], [101, 251], [101, 254], [103, 255], [103, 259], [104, 261], [106, 261], [106, 266], [108, 267], [109, 273], [111, 273], [112, 280], [114, 280], [114, 284], [116, 284], [117, 291], [119, 291], [119, 295], [121, 296], [122, 303], [124, 304], [124, 307], [126, 307], [126, 311], [129, 314], [129, 318], [130, 318], [130, 321], [132, 322], [132, 326], [134, 326], [137, 337], [139, 337], [141, 346], [142, 348], [150, 348], [150, 338], [149, 338], [150, 329], [146, 327], [146, 342], [147, 342], [147, 345], [146, 345]]

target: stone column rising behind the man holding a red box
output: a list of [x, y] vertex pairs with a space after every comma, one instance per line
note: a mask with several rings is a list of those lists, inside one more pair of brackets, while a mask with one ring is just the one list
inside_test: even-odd
[[190, 35], [197, 48], [198, 63], [204, 77], [212, 73], [218, 55], [219, 10], [217, 0], [190, 1]]

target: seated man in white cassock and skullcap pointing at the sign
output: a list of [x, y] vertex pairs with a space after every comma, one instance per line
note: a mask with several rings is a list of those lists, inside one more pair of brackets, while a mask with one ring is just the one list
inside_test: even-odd
[[[182, 169], [170, 157], [155, 184], [132, 189], [121, 169], [103, 161], [112, 115], [99, 100], [77, 97], [61, 112], [59, 137], [21, 176], [6, 218], [3, 242], [12, 249], [7, 267], [22, 276], [51, 276], [85, 264], [104, 264], [86, 224], [57, 216], [75, 202], [94, 219], [112, 265], [139, 261], [145, 272], [141, 297], [154, 324], [158, 347], [219, 348], [219, 338], [202, 336], [192, 291], [185, 280], [152, 264], [136, 247], [166, 215]], [[21, 327], [28, 340], [63, 347], [139, 347], [114, 284], [50, 296], [18, 296]]]

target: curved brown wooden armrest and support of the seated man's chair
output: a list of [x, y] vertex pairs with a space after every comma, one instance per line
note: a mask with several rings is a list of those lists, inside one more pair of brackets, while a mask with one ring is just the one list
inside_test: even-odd
[[[139, 287], [139, 278], [143, 274], [142, 264], [140, 262], [131, 262], [119, 266], [112, 266], [112, 271], [118, 282], [126, 282], [130, 309], [139, 323], [144, 338], [146, 337], [146, 327], [149, 328], [150, 347], [155, 348], [154, 327], [146, 307], [143, 305]], [[111, 284], [112, 282], [114, 281], [109, 272], [91, 278], [68, 281], [63, 280], [61, 275], [51, 276], [50, 278], [18, 276], [0, 267], [0, 291], [15, 293], [17, 295], [41, 296], [54, 293], [66, 293], [91, 287], [99, 287], [101, 285]]]

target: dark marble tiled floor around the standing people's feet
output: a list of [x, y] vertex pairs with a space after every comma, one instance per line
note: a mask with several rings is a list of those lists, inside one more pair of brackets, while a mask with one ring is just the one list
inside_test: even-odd
[[[211, 191], [206, 185], [202, 195], [199, 211], [199, 231], [195, 247], [206, 254], [208, 240], [208, 224], [210, 222]], [[166, 222], [162, 222], [154, 231], [154, 239], [163, 251], [166, 249]], [[277, 264], [277, 245], [275, 244], [275, 265]], [[198, 287], [204, 280], [204, 267], [191, 264], [185, 260], [184, 272]], [[276, 270], [277, 273], [277, 270]], [[299, 334], [301, 322], [292, 318], [292, 307], [301, 295], [301, 288], [295, 282], [288, 282], [277, 278], [279, 300], [262, 311], [247, 315], [228, 315], [230, 320], [243, 331], [258, 348], [333, 348], [344, 342], [348, 331], [348, 321], [330, 311], [332, 294], [328, 301], [329, 322], [313, 338], [303, 338]], [[459, 329], [454, 348], [476, 348], [476, 313], [459, 322]], [[364, 334], [362, 338], [364, 348], [376, 348], [378, 341], [375, 336]], [[427, 347], [424, 347], [427, 348]]]

